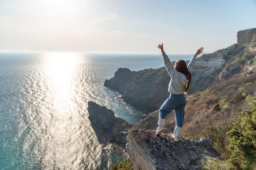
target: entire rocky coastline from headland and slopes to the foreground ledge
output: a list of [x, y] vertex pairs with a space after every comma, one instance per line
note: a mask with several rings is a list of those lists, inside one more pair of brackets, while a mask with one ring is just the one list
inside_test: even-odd
[[[221, 114], [230, 103], [238, 104], [245, 92], [241, 88], [244, 85], [248, 84], [248, 94], [255, 93], [256, 29], [239, 31], [236, 44], [197, 58], [192, 76], [186, 95], [190, 104], [185, 110], [185, 127], [193, 127], [191, 124], [197, 124], [199, 118]], [[183, 138], [174, 142], [170, 136], [175, 127], [172, 113], [166, 118], [165, 134], [154, 136], [152, 129], [157, 127], [158, 109], [169, 96], [169, 81], [164, 67], [140, 71], [118, 68], [113, 78], [105, 80], [104, 86], [117, 90], [125, 102], [147, 114], [135, 125], [116, 118], [104, 106], [88, 102], [89, 119], [99, 142], [118, 143], [122, 147], [126, 144], [126, 152], [137, 170], [199, 170], [202, 162], [220, 160], [220, 153], [210, 139]], [[184, 128], [184, 134], [189, 134], [188, 131]]]

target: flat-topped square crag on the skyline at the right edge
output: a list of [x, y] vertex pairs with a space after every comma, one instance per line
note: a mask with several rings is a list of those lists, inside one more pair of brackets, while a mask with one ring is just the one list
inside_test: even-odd
[[256, 28], [238, 31], [236, 39], [237, 44], [250, 44], [256, 41]]

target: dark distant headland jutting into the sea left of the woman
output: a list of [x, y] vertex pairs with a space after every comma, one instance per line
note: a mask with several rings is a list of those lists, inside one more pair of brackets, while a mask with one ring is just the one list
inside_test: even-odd
[[118, 90], [125, 102], [149, 113], [156, 110], [168, 98], [167, 89], [170, 79], [165, 68], [140, 71], [118, 68], [115, 76], [105, 80], [104, 85]]

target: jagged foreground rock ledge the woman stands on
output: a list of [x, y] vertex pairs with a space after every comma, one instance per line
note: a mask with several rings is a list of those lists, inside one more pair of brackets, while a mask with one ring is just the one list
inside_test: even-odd
[[220, 156], [210, 139], [175, 142], [170, 135], [154, 134], [152, 130], [129, 130], [126, 150], [137, 170], [199, 170], [203, 161]]

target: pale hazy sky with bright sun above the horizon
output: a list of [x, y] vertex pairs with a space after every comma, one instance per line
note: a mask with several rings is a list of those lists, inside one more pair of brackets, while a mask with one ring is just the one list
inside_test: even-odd
[[213, 52], [256, 27], [256, 0], [0, 0], [0, 51]]

